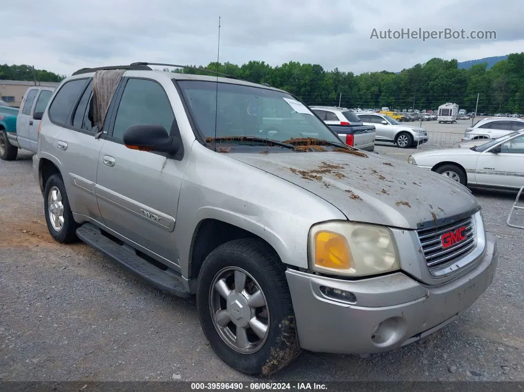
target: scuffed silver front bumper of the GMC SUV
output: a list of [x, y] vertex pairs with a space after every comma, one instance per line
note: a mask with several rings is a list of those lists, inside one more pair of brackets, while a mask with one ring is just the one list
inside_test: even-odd
[[[398, 348], [441, 329], [492, 283], [498, 262], [492, 234], [486, 246], [472, 270], [438, 286], [423, 285], [402, 272], [345, 281], [287, 270], [301, 348], [368, 354]], [[322, 293], [321, 286], [351, 292], [356, 301], [334, 300]]]

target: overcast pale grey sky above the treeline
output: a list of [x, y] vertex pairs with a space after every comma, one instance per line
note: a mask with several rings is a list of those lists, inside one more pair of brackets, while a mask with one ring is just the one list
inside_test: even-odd
[[[321, 64], [356, 74], [433, 57], [524, 51], [521, 0], [17, 0], [2, 4], [0, 62], [70, 75], [134, 61]], [[323, 4], [322, 4], [323, 3]], [[502, 4], [504, 3], [504, 4]], [[9, 27], [10, 26], [10, 27]], [[9, 28], [7, 28], [9, 27]], [[374, 29], [496, 31], [496, 39], [376, 39]]]

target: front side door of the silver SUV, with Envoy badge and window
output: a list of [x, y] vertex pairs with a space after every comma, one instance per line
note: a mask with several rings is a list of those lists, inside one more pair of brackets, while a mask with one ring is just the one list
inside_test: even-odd
[[164, 87], [152, 80], [124, 78], [114, 110], [108, 110], [107, 134], [96, 176], [96, 196], [108, 228], [178, 264], [174, 224], [187, 160], [165, 153], [132, 150], [123, 142], [132, 125], [154, 124], [168, 132], [175, 121]]

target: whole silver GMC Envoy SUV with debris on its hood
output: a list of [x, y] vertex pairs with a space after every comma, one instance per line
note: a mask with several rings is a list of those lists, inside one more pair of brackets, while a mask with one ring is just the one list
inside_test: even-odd
[[495, 238], [462, 185], [347, 146], [285, 91], [149, 65], [167, 64], [79, 70], [36, 116], [47, 226], [196, 295], [228, 365], [395, 349], [492, 283]]

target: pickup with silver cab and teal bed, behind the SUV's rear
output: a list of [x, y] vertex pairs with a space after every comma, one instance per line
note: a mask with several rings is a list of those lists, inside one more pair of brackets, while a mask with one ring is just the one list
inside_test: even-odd
[[12, 112], [10, 131], [6, 132], [4, 138], [0, 135], [0, 158], [5, 161], [16, 159], [19, 148], [37, 152], [40, 120], [34, 119], [34, 115], [42, 113], [46, 108], [53, 91], [54, 87], [43, 86], [27, 89], [20, 108]]

